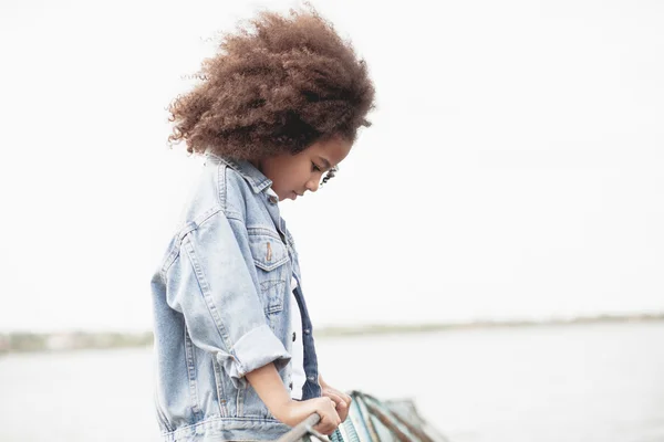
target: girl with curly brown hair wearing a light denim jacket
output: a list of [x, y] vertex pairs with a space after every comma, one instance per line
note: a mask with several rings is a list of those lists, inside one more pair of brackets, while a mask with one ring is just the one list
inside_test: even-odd
[[313, 9], [226, 34], [169, 107], [205, 166], [152, 280], [166, 441], [274, 440], [351, 399], [318, 371], [298, 253], [279, 201], [315, 192], [373, 108], [364, 61]]

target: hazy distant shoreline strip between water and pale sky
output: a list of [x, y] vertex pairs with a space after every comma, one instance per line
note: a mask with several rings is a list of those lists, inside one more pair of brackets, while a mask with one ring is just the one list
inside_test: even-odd
[[[571, 318], [473, 320], [459, 323], [423, 324], [367, 324], [362, 326], [328, 326], [315, 330], [317, 338], [353, 337], [385, 334], [416, 334], [445, 330], [487, 328], [516, 328], [541, 326], [569, 326], [590, 324], [664, 322], [664, 312], [629, 315], [595, 315]], [[152, 332], [103, 333], [103, 332], [53, 332], [53, 333], [0, 333], [0, 355], [32, 351], [71, 351], [84, 349], [111, 349], [152, 346]]]

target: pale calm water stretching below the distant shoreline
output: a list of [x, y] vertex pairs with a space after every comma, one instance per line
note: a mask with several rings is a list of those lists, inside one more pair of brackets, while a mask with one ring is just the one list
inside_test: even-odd
[[[664, 441], [664, 324], [319, 339], [326, 380], [455, 442]], [[151, 349], [0, 358], [0, 441], [154, 441]]]

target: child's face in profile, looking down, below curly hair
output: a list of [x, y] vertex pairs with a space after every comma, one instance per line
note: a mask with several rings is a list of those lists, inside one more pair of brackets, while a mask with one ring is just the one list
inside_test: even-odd
[[270, 180], [279, 200], [294, 200], [307, 190], [315, 192], [321, 178], [351, 151], [352, 144], [341, 138], [318, 141], [299, 154], [280, 154], [257, 162]]

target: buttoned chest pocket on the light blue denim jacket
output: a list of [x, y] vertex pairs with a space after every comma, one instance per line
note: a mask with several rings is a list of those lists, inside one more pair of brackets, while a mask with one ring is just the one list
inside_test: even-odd
[[249, 246], [266, 313], [281, 312], [288, 277], [288, 249], [279, 238], [266, 233], [250, 233]]

